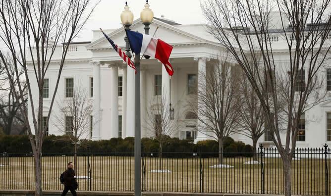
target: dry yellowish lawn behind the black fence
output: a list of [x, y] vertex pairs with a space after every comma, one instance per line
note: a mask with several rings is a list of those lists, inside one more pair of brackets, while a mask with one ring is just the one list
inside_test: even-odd
[[[322, 157], [321, 157], [322, 158]], [[91, 156], [92, 190], [133, 191], [133, 157]], [[146, 191], [175, 191], [215, 193], [261, 193], [262, 184], [266, 194], [283, 193], [283, 168], [279, 158], [263, 158], [264, 183], [261, 164], [247, 165], [252, 158], [225, 158], [224, 164], [233, 168], [211, 168], [217, 158], [199, 157], [164, 158], [162, 169], [169, 173], [154, 173], [159, 169], [158, 158], [144, 158], [146, 167]], [[44, 190], [61, 190], [59, 176], [72, 156], [42, 158]], [[330, 168], [330, 160], [328, 160]], [[34, 189], [33, 157], [0, 158], [0, 189]], [[76, 176], [88, 176], [87, 157], [79, 156]], [[202, 172], [202, 181], [200, 181]], [[330, 172], [329, 172], [330, 173]], [[292, 163], [292, 192], [298, 195], [325, 195], [325, 160], [300, 159]], [[330, 179], [330, 178], [329, 178]], [[88, 190], [87, 179], [78, 179], [79, 190]], [[330, 182], [329, 182], [330, 183]], [[329, 184], [329, 187], [331, 184]]]

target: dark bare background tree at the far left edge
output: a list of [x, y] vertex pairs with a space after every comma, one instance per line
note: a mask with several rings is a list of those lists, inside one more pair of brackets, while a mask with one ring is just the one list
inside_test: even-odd
[[[3, 128], [4, 134], [20, 134], [26, 128], [19, 109], [22, 104], [27, 104], [27, 86], [26, 83], [21, 84], [23, 85], [21, 88], [24, 92], [24, 101], [16, 99], [13, 93], [13, 91], [18, 91], [15, 68], [10, 58], [5, 56], [5, 60], [9, 73], [3, 66], [5, 63], [0, 62], [0, 126]], [[18, 71], [18, 75], [21, 77], [24, 74], [23, 69]], [[9, 78], [14, 82], [14, 88], [10, 88]]]

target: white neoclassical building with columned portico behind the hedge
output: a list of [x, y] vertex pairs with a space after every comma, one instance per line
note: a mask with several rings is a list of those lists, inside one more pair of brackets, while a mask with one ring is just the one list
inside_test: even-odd
[[[133, 31], [144, 32], [144, 25], [140, 19], [133, 22], [130, 27]], [[150, 25], [150, 33], [173, 46], [170, 62], [174, 75], [168, 76], [163, 65], [156, 59], [141, 61], [141, 136], [150, 137], [147, 130], [147, 109], [153, 99], [166, 94], [166, 101], [172, 103], [174, 119], [177, 129], [171, 135], [180, 139], [193, 138], [195, 140], [211, 139], [197, 132], [197, 119], [190, 114], [189, 99], [192, 98], [190, 88], [204, 89], [199, 80], [199, 73], [206, 72], [210, 59], [220, 54], [221, 45], [206, 31], [204, 24], [181, 25], [165, 18], [154, 18]], [[123, 28], [104, 30], [105, 33], [120, 48], [125, 48]], [[275, 48], [281, 48], [281, 40], [275, 40]], [[61, 46], [58, 47], [58, 50]], [[279, 55], [281, 59], [281, 53]], [[60, 56], [53, 58], [46, 79], [48, 85], [44, 90], [44, 115], [49, 111], [51, 96], [55, 90], [57, 79], [58, 61]], [[330, 76], [326, 80], [331, 81]], [[29, 74], [34, 74], [33, 69]], [[330, 77], [330, 78], [329, 78]], [[32, 87], [35, 81], [32, 80]], [[326, 83], [326, 82], [325, 82]], [[55, 116], [61, 115], [57, 103], [63, 102], [77, 84], [88, 91], [89, 98], [93, 101], [91, 110], [91, 132], [87, 138], [92, 140], [110, 139], [114, 137], [134, 137], [134, 70], [123, 63], [118, 54], [111, 48], [100, 30], [93, 31], [91, 42], [72, 43], [66, 57], [65, 67], [59, 80], [59, 87], [55, 104], [50, 117], [48, 134], [63, 134], [56, 126]], [[196, 86], [196, 87], [195, 87]], [[327, 86], [327, 85], [326, 85]], [[32, 88], [35, 102], [38, 101], [37, 85]], [[47, 96], [48, 95], [48, 96]], [[35, 110], [37, 111], [37, 110]], [[330, 113], [329, 113], [330, 112]], [[30, 122], [32, 114], [29, 113]], [[199, 115], [199, 114], [198, 114]], [[192, 118], [193, 116], [193, 118]], [[305, 113], [304, 133], [302, 141], [297, 142], [298, 147], [322, 147], [331, 144], [331, 99], [330, 102], [314, 106]], [[330, 124], [330, 125], [329, 125]], [[329, 126], [328, 126], [329, 125]], [[251, 144], [251, 140], [242, 135], [231, 136], [235, 140]], [[268, 144], [268, 137], [260, 138], [259, 143]]]

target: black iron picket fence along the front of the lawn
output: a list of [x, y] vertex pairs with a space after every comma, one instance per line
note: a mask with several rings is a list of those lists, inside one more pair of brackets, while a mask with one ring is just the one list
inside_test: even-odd
[[[72, 153], [42, 156], [42, 187], [62, 190], [60, 174]], [[254, 153], [163, 152], [142, 153], [142, 190], [284, 194], [283, 164], [276, 149], [260, 147]], [[255, 156], [254, 156], [255, 155]], [[291, 165], [292, 194], [330, 195], [330, 148], [298, 148]], [[169, 158], [172, 157], [172, 158]], [[176, 158], [173, 158], [176, 157]], [[254, 159], [254, 157], [256, 157]], [[0, 154], [0, 190], [33, 190], [34, 158], [29, 154]], [[75, 165], [79, 190], [133, 191], [134, 154], [78, 153]]]

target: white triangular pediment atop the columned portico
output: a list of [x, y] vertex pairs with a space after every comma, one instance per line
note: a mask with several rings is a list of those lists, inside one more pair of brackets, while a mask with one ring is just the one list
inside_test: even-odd
[[[154, 35], [156, 29], [158, 30], [155, 33], [155, 37], [160, 38], [161, 40], [165, 41], [168, 44], [190, 44], [190, 43], [203, 43], [206, 42], [205, 39], [190, 34], [188, 32], [182, 31], [175, 26], [166, 24], [162, 21], [154, 19], [152, 24], [149, 26], [150, 35]], [[142, 24], [140, 19], [137, 19], [131, 25], [132, 31], [138, 31], [140, 33], [144, 33], [144, 24]], [[119, 28], [111, 33], [108, 34], [111, 40], [114, 41], [119, 47], [124, 47], [124, 37], [125, 31], [124, 28]], [[105, 49], [110, 48], [109, 42], [105, 39], [103, 34], [100, 32], [100, 38], [96, 41], [92, 42], [91, 44], [86, 46], [87, 49]]]

